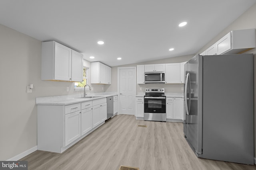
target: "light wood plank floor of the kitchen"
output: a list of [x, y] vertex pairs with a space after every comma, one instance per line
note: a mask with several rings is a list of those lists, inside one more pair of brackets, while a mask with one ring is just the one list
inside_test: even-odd
[[[147, 127], [138, 127], [147, 125]], [[37, 150], [22, 158], [29, 170], [256, 170], [256, 166], [197, 158], [183, 124], [116, 115], [62, 154]]]

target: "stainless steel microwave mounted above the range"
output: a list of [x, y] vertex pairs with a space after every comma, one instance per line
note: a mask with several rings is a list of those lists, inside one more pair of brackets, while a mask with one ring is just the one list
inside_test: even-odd
[[165, 72], [145, 72], [145, 83], [165, 83]]

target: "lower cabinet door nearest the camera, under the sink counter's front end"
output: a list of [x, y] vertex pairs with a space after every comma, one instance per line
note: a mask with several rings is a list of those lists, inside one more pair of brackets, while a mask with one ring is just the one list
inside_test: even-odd
[[81, 136], [80, 111], [65, 115], [65, 146]]

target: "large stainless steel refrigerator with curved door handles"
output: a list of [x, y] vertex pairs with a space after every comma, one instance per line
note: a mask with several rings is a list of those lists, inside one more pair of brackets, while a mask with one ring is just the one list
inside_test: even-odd
[[200, 158], [254, 164], [253, 54], [184, 65], [184, 136]]

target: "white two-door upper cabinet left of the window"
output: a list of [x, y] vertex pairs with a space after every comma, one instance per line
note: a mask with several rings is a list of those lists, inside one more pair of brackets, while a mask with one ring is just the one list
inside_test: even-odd
[[[72, 54], [74, 54], [73, 60]], [[41, 79], [82, 81], [82, 58], [82, 54], [72, 52], [72, 49], [60, 43], [42, 42]], [[74, 63], [72, 64], [72, 62]], [[72, 70], [72, 68], [74, 69]]]

